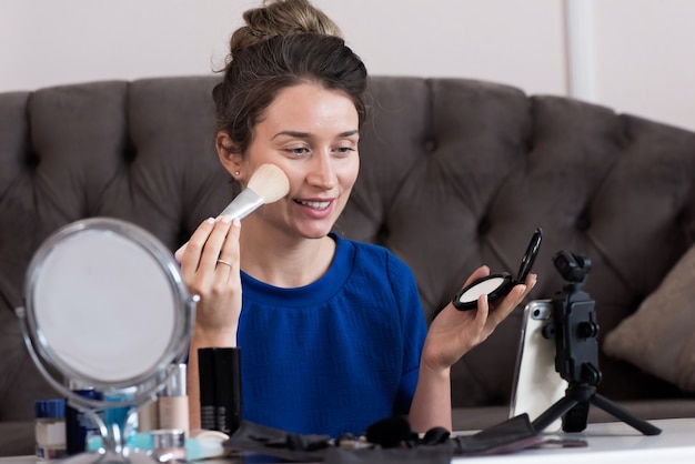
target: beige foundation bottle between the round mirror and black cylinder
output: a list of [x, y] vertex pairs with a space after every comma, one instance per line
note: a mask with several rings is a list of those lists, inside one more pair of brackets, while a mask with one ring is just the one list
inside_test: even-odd
[[159, 396], [159, 428], [180, 430], [189, 434], [189, 397], [187, 389], [187, 365], [171, 366], [173, 373]]

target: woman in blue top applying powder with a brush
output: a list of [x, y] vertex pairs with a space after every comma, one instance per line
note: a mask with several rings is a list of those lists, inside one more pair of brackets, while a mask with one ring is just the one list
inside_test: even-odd
[[[197, 351], [242, 352], [245, 418], [296, 433], [360, 434], [392, 414], [451, 428], [451, 366], [535, 284], [494, 309], [451, 304], [426, 330], [411, 271], [383, 248], [331, 232], [360, 167], [366, 70], [305, 0], [244, 14], [213, 92], [216, 149], [244, 185], [272, 163], [290, 192], [244, 220], [209, 219], [181, 256], [201, 296], [190, 351], [191, 426], [200, 424]], [[483, 266], [469, 279], [488, 274]]]

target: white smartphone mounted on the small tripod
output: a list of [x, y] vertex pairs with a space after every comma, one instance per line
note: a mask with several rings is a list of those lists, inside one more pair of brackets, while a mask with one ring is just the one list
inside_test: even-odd
[[[527, 413], [533, 422], [565, 395], [567, 381], [555, 370], [555, 340], [543, 336], [553, 321], [552, 300], [534, 300], [524, 307], [510, 417]], [[545, 432], [561, 428], [562, 417]]]

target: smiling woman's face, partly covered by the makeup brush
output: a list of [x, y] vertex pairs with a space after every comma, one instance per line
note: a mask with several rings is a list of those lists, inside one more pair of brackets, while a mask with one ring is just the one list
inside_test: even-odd
[[312, 83], [290, 87], [268, 107], [246, 152], [228, 154], [236, 161], [225, 165], [240, 171], [244, 183], [261, 164], [281, 168], [290, 193], [255, 214], [292, 236], [322, 238], [345, 208], [357, 178], [357, 111], [344, 93]]

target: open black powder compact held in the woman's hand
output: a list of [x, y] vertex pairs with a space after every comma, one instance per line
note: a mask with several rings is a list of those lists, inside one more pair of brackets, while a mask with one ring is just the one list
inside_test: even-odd
[[522, 258], [522, 263], [518, 269], [518, 274], [516, 275], [516, 279], [514, 279], [512, 274], [507, 272], [503, 272], [500, 274], [490, 274], [485, 278], [477, 279], [470, 285], [464, 286], [463, 290], [461, 290], [459, 293], [456, 293], [456, 295], [452, 300], [454, 307], [456, 307], [459, 311], [474, 310], [477, 307], [477, 299], [481, 295], [486, 294], [487, 301], [493, 302], [510, 293], [514, 285], [524, 283], [526, 276], [531, 272], [533, 262], [538, 255], [542, 238], [543, 231], [541, 230], [541, 228], [538, 228], [533, 233], [531, 242], [528, 243], [528, 248], [526, 249], [526, 253], [524, 253], [524, 256]]

